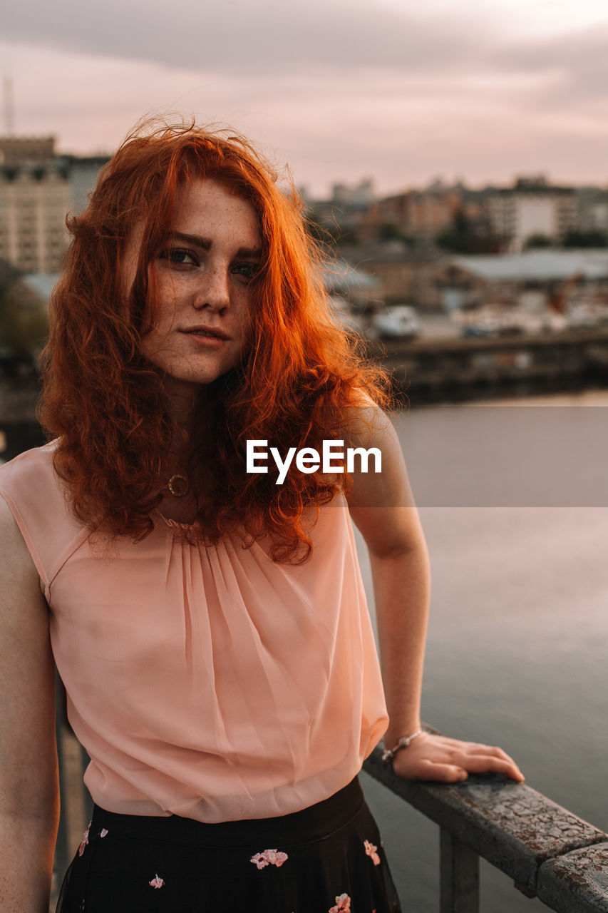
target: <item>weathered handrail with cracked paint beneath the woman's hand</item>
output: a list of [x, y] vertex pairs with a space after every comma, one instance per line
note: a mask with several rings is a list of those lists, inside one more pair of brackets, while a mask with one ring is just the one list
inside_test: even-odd
[[[482, 856], [527, 897], [538, 897], [559, 913], [608, 911], [608, 834], [525, 783], [491, 775], [472, 775], [460, 783], [408, 781], [394, 773], [382, 753], [374, 749], [363, 770], [439, 824], [451, 835], [452, 848], [455, 841]], [[442, 841], [442, 855], [444, 850]], [[444, 876], [445, 871], [442, 894], [451, 892], [452, 899], [442, 898], [442, 913], [476, 910], [477, 887], [470, 887], [470, 878], [462, 880], [471, 899], [457, 903], [459, 888], [444, 891]]]

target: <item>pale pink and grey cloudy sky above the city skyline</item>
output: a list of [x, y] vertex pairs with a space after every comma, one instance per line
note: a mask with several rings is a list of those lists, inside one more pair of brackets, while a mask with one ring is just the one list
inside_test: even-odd
[[24, 0], [2, 20], [14, 131], [63, 152], [194, 114], [316, 196], [608, 185], [606, 0]]

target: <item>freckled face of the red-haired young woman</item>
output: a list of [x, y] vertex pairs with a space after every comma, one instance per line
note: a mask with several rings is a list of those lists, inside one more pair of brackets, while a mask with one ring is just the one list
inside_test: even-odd
[[260, 257], [257, 213], [212, 180], [181, 188], [171, 232], [152, 269], [157, 317], [142, 353], [189, 395], [241, 359]]

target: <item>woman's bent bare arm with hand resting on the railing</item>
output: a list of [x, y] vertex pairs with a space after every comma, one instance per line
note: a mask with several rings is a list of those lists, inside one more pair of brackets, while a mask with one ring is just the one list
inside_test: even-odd
[[[390, 717], [384, 737], [393, 748], [420, 727], [430, 573], [425, 538], [414, 506], [401, 446], [392, 423], [370, 406], [371, 425], [353, 426], [352, 446], [378, 447], [382, 472], [355, 472], [351, 516], [370, 551], [384, 690]], [[467, 772], [498, 771], [523, 779], [501, 749], [423, 734], [393, 760], [394, 770], [414, 780], [455, 782]]]

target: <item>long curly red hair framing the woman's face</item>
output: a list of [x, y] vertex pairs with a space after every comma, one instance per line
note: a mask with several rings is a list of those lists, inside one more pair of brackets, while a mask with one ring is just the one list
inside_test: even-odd
[[[175, 435], [162, 373], [142, 356], [155, 313], [151, 264], [169, 232], [180, 187], [213, 177], [253, 205], [262, 257], [252, 283], [250, 342], [242, 362], [205, 388], [188, 441], [194, 494], [210, 494], [190, 530], [216, 541], [236, 529], [249, 541], [269, 536], [275, 561], [304, 561], [311, 544], [305, 514], [348, 486], [346, 473], [289, 471], [247, 475], [246, 440], [321, 449], [341, 436], [362, 393], [388, 403], [385, 373], [362, 361], [357, 340], [337, 327], [322, 288], [325, 265], [302, 205], [241, 137], [189, 124], [146, 123], [133, 131], [100, 173], [87, 209], [68, 219], [73, 236], [50, 306], [42, 355], [39, 416], [58, 437], [54, 464], [75, 515], [93, 530], [140, 540], [166, 490], [166, 456]], [[143, 227], [130, 293], [122, 264], [135, 226]], [[206, 397], [208, 401], [208, 397]], [[198, 405], [197, 405], [198, 408]], [[213, 447], [208, 444], [213, 424]]]

